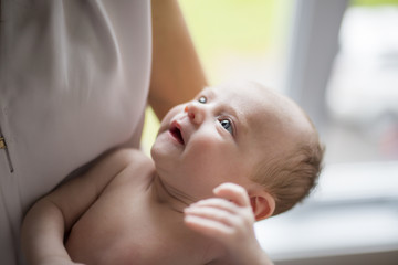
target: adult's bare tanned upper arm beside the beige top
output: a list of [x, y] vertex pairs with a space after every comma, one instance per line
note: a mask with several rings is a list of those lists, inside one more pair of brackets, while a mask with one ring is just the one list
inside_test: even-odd
[[172, 106], [193, 98], [207, 81], [178, 1], [151, 0], [151, 13], [149, 104], [161, 119]]

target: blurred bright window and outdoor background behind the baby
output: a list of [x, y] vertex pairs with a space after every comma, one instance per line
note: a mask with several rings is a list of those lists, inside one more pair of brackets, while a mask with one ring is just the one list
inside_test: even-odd
[[[255, 225], [275, 264], [398, 264], [398, 0], [180, 0], [211, 85], [295, 99], [326, 145], [314, 194]], [[143, 148], [158, 121], [148, 108]]]

